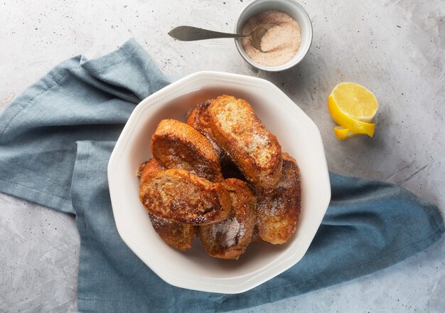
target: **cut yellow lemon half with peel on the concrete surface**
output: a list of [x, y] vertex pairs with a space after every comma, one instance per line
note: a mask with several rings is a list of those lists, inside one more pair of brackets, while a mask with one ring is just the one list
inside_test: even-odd
[[378, 103], [375, 95], [362, 85], [336, 85], [328, 97], [328, 109], [333, 120], [350, 132], [374, 135], [375, 124], [371, 122]]

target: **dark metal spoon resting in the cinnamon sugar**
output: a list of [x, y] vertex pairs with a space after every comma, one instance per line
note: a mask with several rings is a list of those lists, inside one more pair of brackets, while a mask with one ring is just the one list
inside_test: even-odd
[[219, 31], [209, 31], [207, 29], [193, 26], [178, 26], [169, 31], [168, 35], [175, 39], [178, 39], [178, 41], [201, 41], [204, 39], [213, 38], [249, 39], [250, 41], [252, 41], [252, 44], [255, 48], [257, 48], [259, 51], [262, 51], [261, 38], [264, 36], [264, 33], [266, 33], [269, 28], [274, 26], [277, 25], [267, 23], [259, 24], [249, 35], [242, 35], [239, 33], [220, 33]]

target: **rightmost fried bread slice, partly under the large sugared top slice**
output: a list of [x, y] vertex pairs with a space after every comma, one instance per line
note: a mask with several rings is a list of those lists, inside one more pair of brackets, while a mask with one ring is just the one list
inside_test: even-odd
[[295, 159], [284, 153], [277, 186], [256, 196], [259, 237], [273, 244], [285, 243], [296, 230], [301, 209], [301, 176]]

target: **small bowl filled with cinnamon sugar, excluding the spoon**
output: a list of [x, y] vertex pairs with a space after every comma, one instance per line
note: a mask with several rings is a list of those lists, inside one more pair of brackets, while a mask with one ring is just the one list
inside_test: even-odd
[[235, 45], [247, 63], [277, 72], [298, 64], [312, 43], [312, 24], [306, 10], [293, 0], [255, 0], [238, 16], [235, 33], [250, 33], [259, 23], [273, 23], [262, 38], [262, 51], [246, 39]]

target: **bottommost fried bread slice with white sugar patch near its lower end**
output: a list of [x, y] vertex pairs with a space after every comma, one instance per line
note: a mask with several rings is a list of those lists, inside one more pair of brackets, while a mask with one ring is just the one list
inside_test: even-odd
[[232, 203], [229, 216], [219, 223], [197, 226], [197, 235], [209, 255], [236, 260], [245, 252], [252, 237], [255, 198], [244, 181], [226, 179], [223, 185]]

